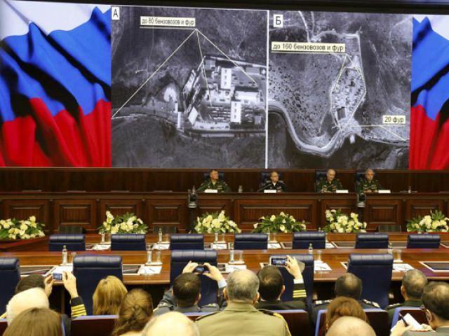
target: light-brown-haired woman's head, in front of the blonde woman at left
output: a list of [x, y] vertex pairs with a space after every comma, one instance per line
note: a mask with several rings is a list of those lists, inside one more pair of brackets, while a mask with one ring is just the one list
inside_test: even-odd
[[140, 336], [153, 315], [152, 295], [135, 288], [123, 298], [112, 336]]

